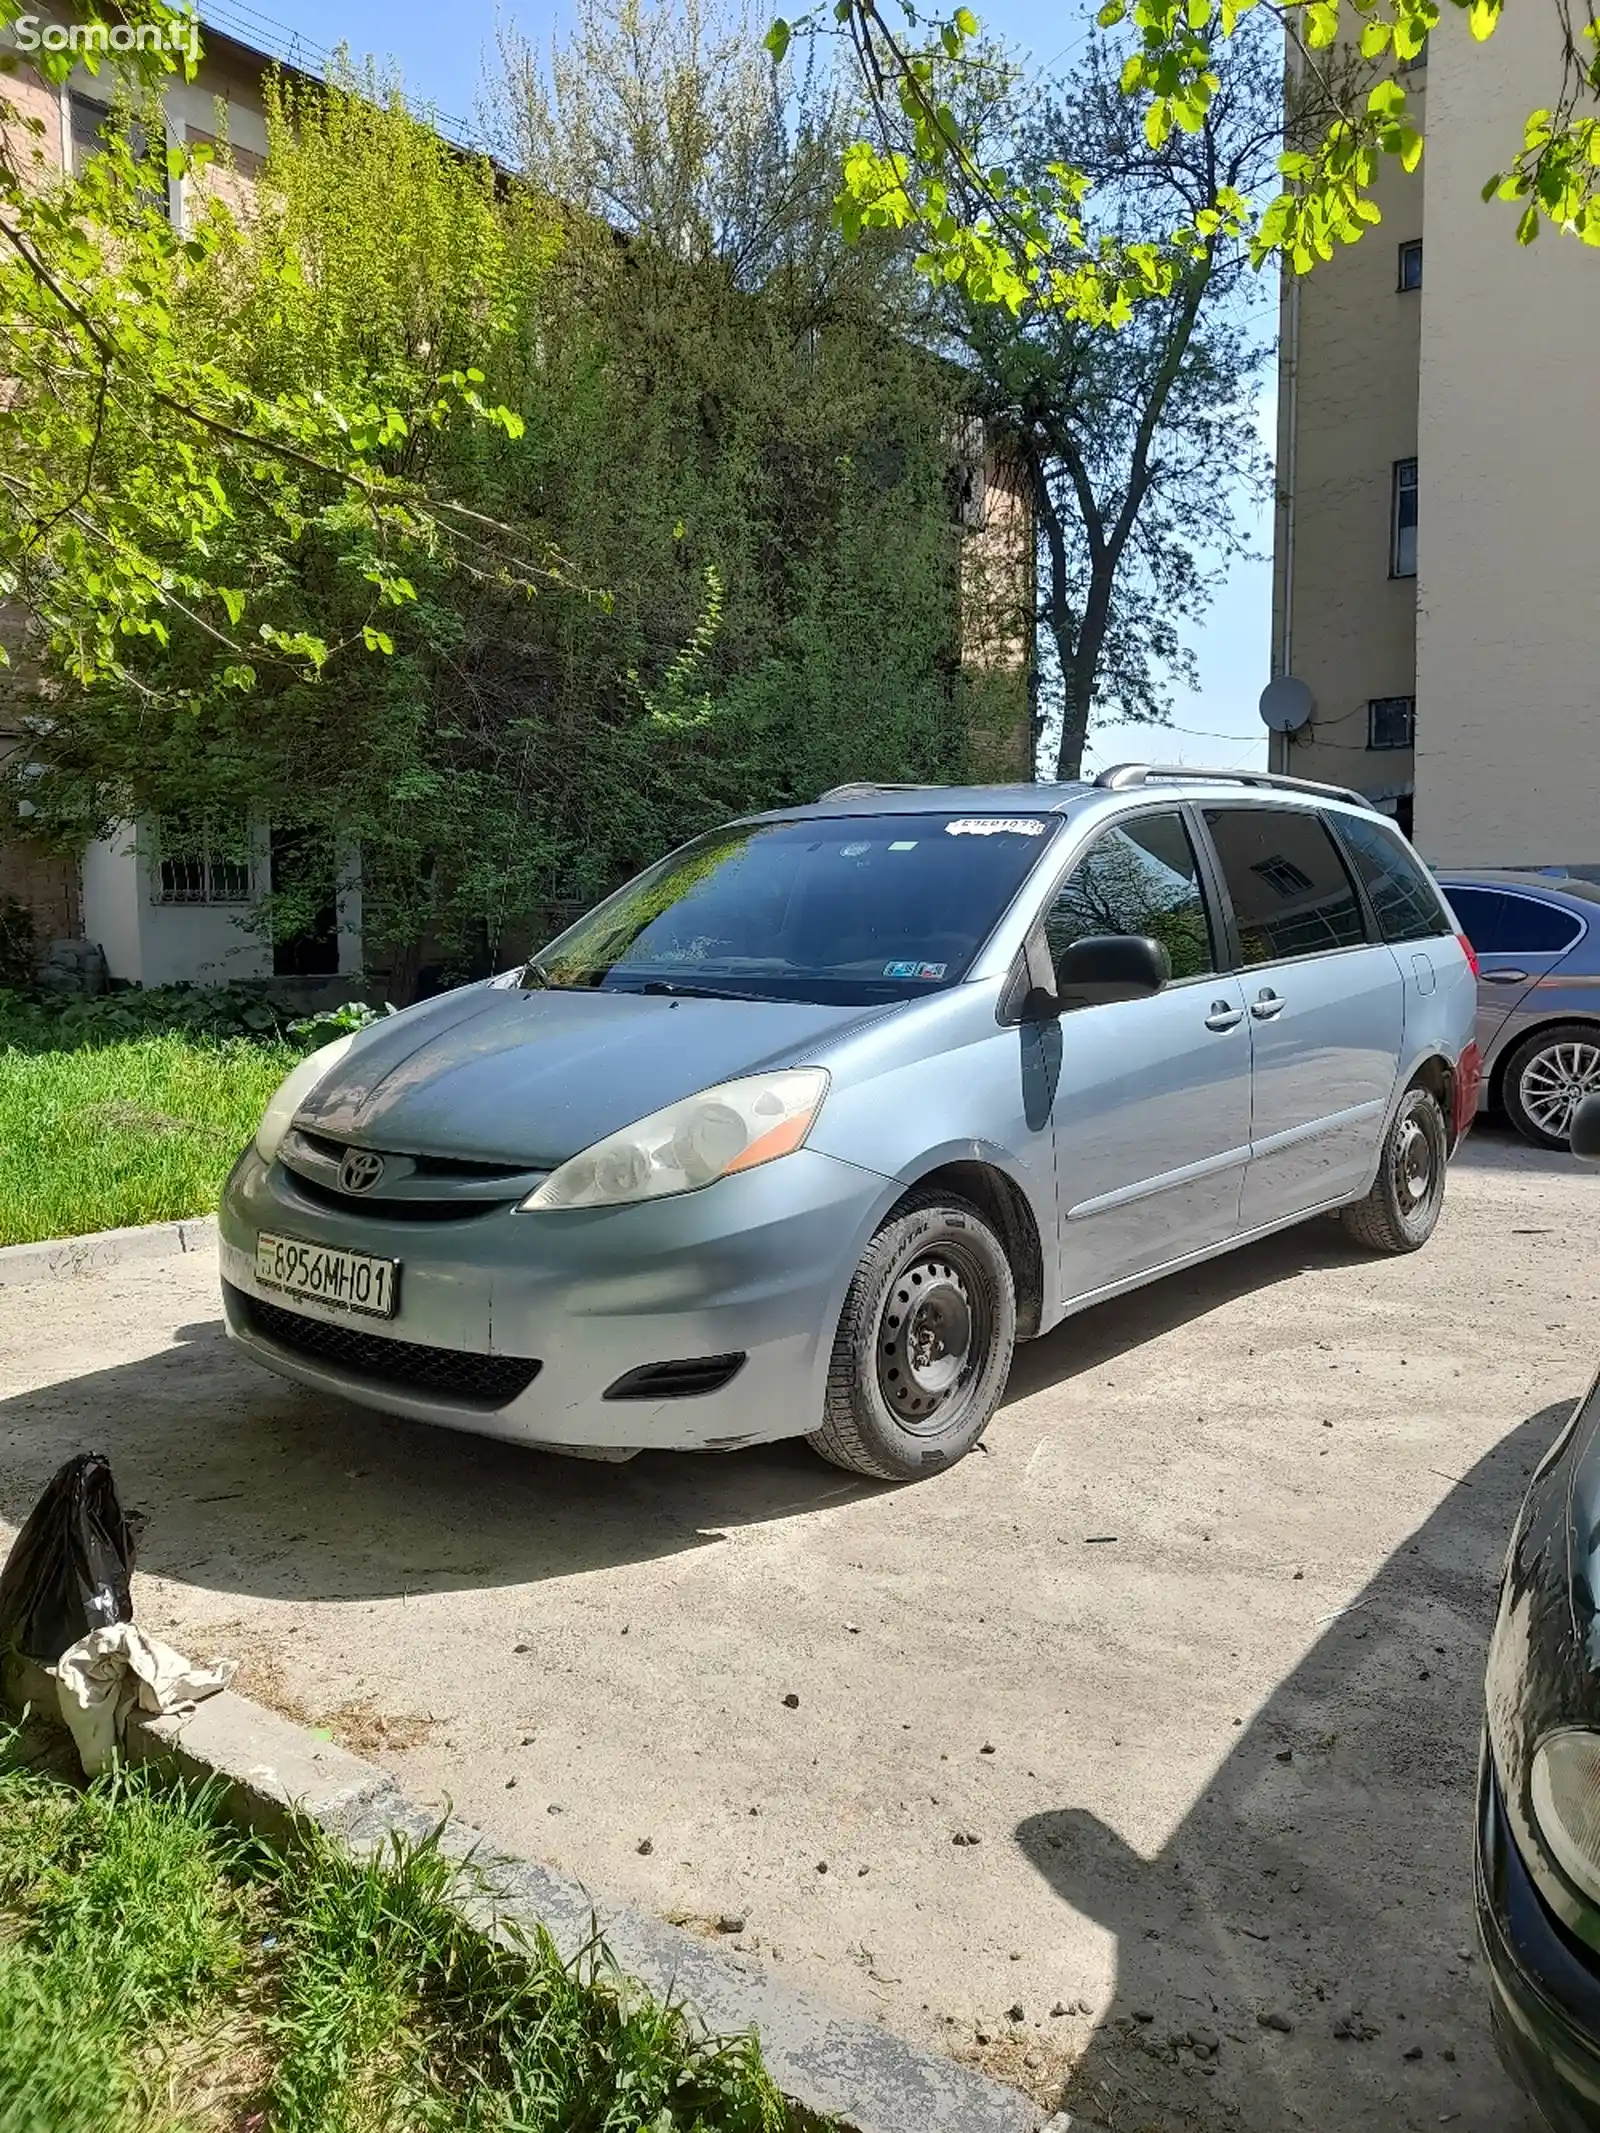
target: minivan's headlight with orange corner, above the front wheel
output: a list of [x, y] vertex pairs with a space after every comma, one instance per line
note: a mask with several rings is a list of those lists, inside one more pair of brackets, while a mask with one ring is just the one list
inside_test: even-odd
[[523, 1212], [621, 1207], [627, 1201], [698, 1192], [732, 1171], [753, 1171], [800, 1148], [828, 1094], [821, 1066], [789, 1066], [721, 1081], [651, 1111], [550, 1171]]

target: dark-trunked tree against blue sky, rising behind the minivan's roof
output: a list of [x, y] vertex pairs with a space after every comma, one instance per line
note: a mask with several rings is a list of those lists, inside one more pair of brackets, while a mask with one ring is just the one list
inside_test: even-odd
[[[986, 83], [966, 105], [973, 162], [1005, 158], [1035, 192], [1052, 166], [1075, 164], [1092, 177], [1097, 213], [1129, 243], [1271, 169], [1282, 87], [1259, 34], [1229, 51], [1199, 132], [1173, 132], [1158, 149], [1101, 41], [1043, 92], [998, 53], [986, 55]], [[1041, 232], [1071, 254], [1075, 232], [1058, 218], [1043, 218]], [[1079, 774], [1094, 712], [1165, 717], [1167, 676], [1193, 680], [1175, 625], [1244, 552], [1239, 501], [1267, 480], [1252, 390], [1263, 348], [1242, 303], [1244, 273], [1239, 250], [1212, 239], [1122, 328], [1033, 294], [1015, 311], [964, 284], [943, 299], [975, 401], [1028, 476], [1058, 691], [1054, 776]]]

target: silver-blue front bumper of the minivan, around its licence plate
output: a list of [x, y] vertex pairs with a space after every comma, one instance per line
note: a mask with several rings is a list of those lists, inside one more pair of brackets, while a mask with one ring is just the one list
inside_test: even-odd
[[[593, 1450], [734, 1450], [821, 1423], [834, 1327], [866, 1239], [900, 1188], [815, 1150], [636, 1207], [452, 1222], [358, 1214], [307, 1192], [247, 1150], [218, 1212], [230, 1335], [269, 1369], [369, 1408], [450, 1429]], [[395, 1318], [350, 1318], [256, 1282], [256, 1235], [373, 1252], [401, 1263]], [[367, 1340], [538, 1359], [503, 1406], [452, 1397], [267, 1337], [250, 1299]], [[721, 1391], [606, 1399], [634, 1369], [742, 1354]]]

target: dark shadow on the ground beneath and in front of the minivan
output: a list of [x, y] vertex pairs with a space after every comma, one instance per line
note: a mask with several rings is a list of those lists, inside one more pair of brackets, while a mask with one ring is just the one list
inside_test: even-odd
[[[1310, 1222], [1099, 1305], [1018, 1352], [1007, 1399], [1348, 1256], [1331, 1222]], [[220, 1318], [179, 1327], [177, 1342], [0, 1399], [0, 1517], [19, 1525], [62, 1459], [105, 1450], [145, 1519], [143, 1570], [256, 1598], [361, 1600], [653, 1561], [881, 1489], [798, 1440], [563, 1459], [307, 1393], [241, 1357]]]

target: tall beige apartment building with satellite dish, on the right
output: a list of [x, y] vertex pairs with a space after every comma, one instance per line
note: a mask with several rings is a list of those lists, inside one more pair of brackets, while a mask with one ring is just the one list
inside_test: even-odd
[[1274, 770], [1357, 787], [1436, 864], [1600, 877], [1600, 254], [1521, 247], [1483, 203], [1557, 83], [1549, 11], [1438, 34], [1408, 75], [1421, 169], [1286, 279], [1263, 715], [1299, 721]]

